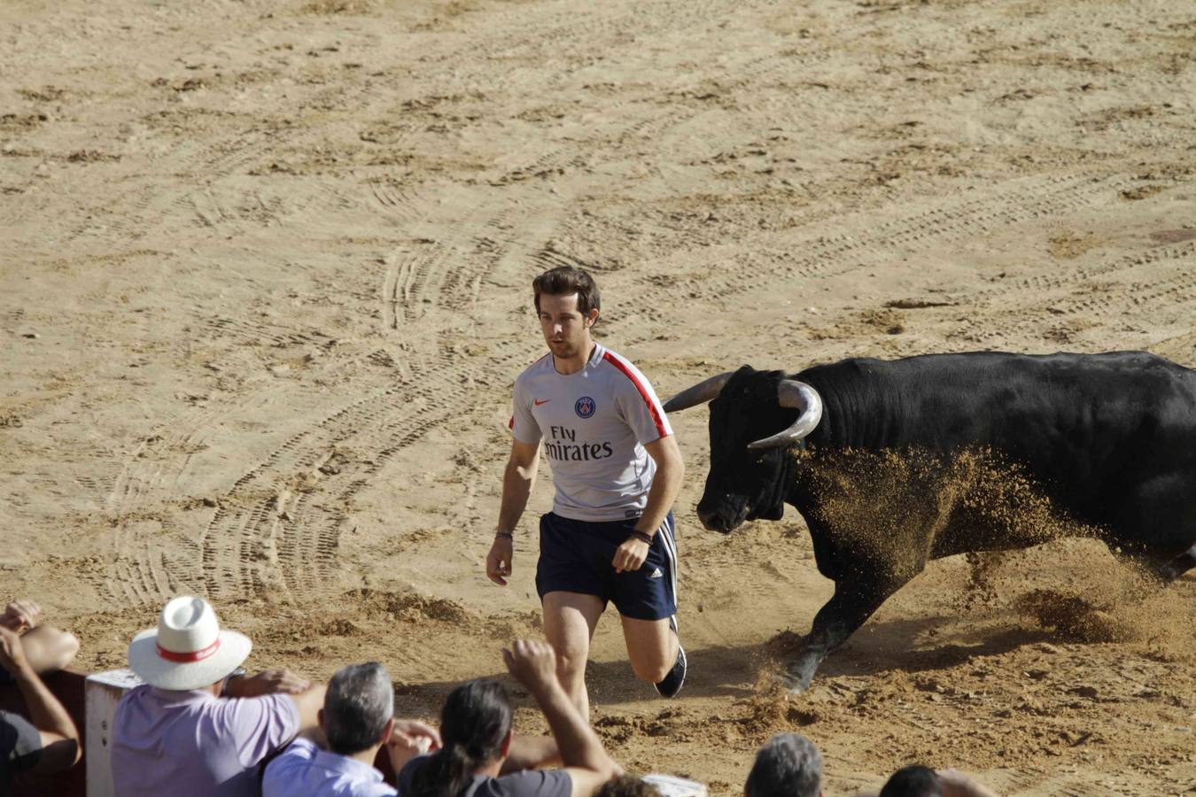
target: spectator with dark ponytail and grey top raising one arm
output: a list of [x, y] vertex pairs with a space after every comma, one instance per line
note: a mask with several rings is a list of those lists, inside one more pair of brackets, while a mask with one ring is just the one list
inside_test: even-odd
[[541, 764], [535, 759], [556, 758], [554, 746], [513, 741], [506, 691], [495, 681], [469, 681], [450, 693], [440, 712], [444, 747], [399, 771], [404, 797], [591, 797], [618, 772], [561, 687], [551, 645], [518, 639], [502, 657], [544, 712], [565, 768], [532, 771]]

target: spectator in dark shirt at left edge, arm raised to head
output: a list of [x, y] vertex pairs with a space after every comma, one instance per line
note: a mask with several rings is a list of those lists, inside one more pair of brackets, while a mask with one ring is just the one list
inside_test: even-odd
[[0, 625], [0, 667], [17, 683], [29, 709], [29, 719], [0, 711], [0, 795], [7, 795], [10, 775], [16, 771], [60, 772], [74, 766], [79, 760], [79, 731], [37, 676], [22, 638], [7, 625]]

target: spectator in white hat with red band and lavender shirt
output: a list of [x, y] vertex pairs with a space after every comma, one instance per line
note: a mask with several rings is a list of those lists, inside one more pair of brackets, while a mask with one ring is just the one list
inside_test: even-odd
[[249, 638], [202, 597], [176, 597], [129, 645], [144, 686], [116, 707], [112, 780], [122, 797], [261, 793], [258, 766], [316, 727], [324, 687], [287, 670], [243, 676]]

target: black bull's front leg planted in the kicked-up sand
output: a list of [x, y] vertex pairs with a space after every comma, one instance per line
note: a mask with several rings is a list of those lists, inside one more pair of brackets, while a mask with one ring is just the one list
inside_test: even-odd
[[[866, 576], [858, 580], [868, 581]], [[818, 609], [813, 626], [803, 640], [798, 655], [786, 664], [781, 683], [794, 693], [805, 692], [826, 654], [847, 642], [847, 638], [880, 608], [885, 599], [901, 589], [904, 583], [904, 581], [893, 583], [873, 580], [872, 583], [846, 586], [843, 582], [836, 582], [835, 594]]]

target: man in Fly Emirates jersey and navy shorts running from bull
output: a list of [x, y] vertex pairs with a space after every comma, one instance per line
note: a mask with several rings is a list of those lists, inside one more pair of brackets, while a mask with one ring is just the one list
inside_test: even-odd
[[671, 511], [685, 468], [648, 380], [591, 337], [599, 300], [590, 275], [559, 266], [532, 289], [549, 354], [515, 380], [514, 440], [486, 575], [507, 583], [543, 443], [556, 496], [539, 519], [536, 590], [561, 686], [588, 718], [586, 660], [608, 601], [622, 618], [635, 674], [666, 698], [685, 680]]

